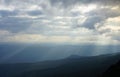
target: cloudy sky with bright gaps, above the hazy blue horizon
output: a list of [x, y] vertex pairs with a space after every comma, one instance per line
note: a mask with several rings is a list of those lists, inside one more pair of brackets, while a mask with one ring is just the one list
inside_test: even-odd
[[120, 44], [120, 0], [0, 0], [0, 42]]

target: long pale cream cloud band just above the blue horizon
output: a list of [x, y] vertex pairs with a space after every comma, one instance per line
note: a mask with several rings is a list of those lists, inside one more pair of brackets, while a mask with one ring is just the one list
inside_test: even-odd
[[91, 43], [101, 45], [113, 43], [117, 44], [116, 41], [113, 41], [110, 38], [95, 35], [70, 37], [66, 35], [46, 36], [41, 34], [12, 34], [11, 36], [7, 35], [6, 38], [0, 38], [0, 40], [2, 40], [0, 42], [17, 42], [17, 43], [68, 43], [68, 44]]

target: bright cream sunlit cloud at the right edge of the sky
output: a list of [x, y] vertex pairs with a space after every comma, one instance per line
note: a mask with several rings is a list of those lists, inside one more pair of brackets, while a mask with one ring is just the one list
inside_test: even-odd
[[120, 41], [120, 17], [107, 19], [103, 24], [99, 24], [99, 33], [113, 40]]

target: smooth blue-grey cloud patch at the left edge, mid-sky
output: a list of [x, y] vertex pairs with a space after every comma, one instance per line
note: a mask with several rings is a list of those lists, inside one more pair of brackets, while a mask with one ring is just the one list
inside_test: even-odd
[[26, 19], [7, 17], [0, 20], [0, 29], [15, 33], [29, 28], [30, 24]]

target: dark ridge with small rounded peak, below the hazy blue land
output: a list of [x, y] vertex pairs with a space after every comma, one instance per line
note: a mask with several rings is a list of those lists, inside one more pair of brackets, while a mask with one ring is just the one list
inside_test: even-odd
[[66, 59], [36, 63], [0, 64], [0, 77], [101, 77], [119, 60], [120, 54], [116, 53], [88, 57], [71, 55]]

